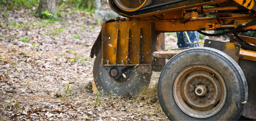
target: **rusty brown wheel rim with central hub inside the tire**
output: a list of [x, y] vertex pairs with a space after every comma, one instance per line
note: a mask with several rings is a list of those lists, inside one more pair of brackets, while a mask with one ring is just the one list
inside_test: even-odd
[[204, 65], [193, 65], [183, 69], [176, 77], [173, 96], [187, 115], [207, 118], [224, 106], [226, 85], [216, 70]]

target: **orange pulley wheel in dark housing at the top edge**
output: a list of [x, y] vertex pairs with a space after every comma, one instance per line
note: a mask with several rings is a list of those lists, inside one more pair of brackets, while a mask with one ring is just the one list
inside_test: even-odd
[[114, 0], [114, 2], [123, 11], [132, 12], [148, 6], [152, 0]]

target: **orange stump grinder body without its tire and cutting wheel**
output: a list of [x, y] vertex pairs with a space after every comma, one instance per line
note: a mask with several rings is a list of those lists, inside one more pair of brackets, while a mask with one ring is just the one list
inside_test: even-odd
[[[161, 71], [165, 58], [180, 52], [162, 51], [165, 50], [165, 32], [256, 30], [256, 25], [246, 26], [256, 20], [254, 0], [152, 0], [146, 6], [144, 0], [139, 7], [130, 7], [129, 10], [129, 6], [125, 9], [125, 5], [116, 5], [122, 1], [109, 0], [109, 4], [113, 11], [126, 18], [103, 22], [102, 32], [92, 48], [91, 57], [94, 57], [97, 48], [102, 47], [103, 67], [144, 68], [138, 69], [139, 73]], [[243, 70], [247, 69], [244, 74], [249, 96], [243, 116], [256, 119], [253, 113], [256, 110], [253, 104], [256, 99], [253, 96], [256, 92], [256, 38], [239, 37], [245, 42], [233, 39], [230, 42], [241, 45], [238, 63]], [[229, 51], [230, 48], [234, 47], [227, 45], [224, 50]]]

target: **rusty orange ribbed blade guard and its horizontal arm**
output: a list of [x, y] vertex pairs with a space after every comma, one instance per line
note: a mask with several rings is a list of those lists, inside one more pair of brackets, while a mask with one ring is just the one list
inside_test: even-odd
[[[193, 16], [195, 15], [190, 14], [190, 19], [187, 22], [184, 22], [184, 19], [164, 20], [155, 17], [103, 22], [103, 66], [164, 65], [164, 60], [154, 58], [158, 56], [153, 56], [156, 50], [164, 50], [164, 35], [160, 33], [221, 29], [221, 24], [217, 24], [219, 23], [217, 18], [193, 18]], [[238, 22], [248, 23], [256, 19], [256, 16], [233, 16], [219, 19], [224, 21], [222, 24], [232, 25]], [[256, 30], [256, 25], [251, 26], [250, 29]], [[243, 51], [243, 53], [245, 52]], [[170, 55], [167, 55], [166, 58]], [[254, 60], [254, 56], [247, 56], [247, 54], [244, 56], [242, 57], [252, 57], [251, 60]], [[237, 61], [237, 59], [235, 60]]]

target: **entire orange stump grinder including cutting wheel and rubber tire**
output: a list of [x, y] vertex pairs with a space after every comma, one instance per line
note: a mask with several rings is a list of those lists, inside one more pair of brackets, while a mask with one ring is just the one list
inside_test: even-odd
[[[243, 34], [256, 30], [256, 0], [108, 2], [120, 16], [102, 23], [91, 50], [97, 87], [136, 94], [161, 71], [158, 99], [170, 120], [256, 119], [256, 38]], [[230, 40], [165, 50], [164, 33], [177, 31]]]

